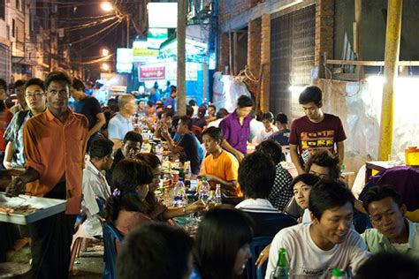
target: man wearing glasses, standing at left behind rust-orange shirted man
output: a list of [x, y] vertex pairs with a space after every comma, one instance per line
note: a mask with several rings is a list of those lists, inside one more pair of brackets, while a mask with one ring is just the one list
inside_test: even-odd
[[41, 79], [29, 79], [24, 86], [24, 97], [28, 110], [18, 111], [11, 119], [11, 123], [4, 132], [4, 139], [8, 141], [4, 155], [6, 170], [25, 171], [25, 155], [23, 154], [23, 126], [32, 117], [45, 111], [45, 87]]

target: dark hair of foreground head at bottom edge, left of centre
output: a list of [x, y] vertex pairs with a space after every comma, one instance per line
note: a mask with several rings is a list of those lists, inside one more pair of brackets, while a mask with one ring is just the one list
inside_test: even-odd
[[193, 240], [185, 230], [149, 222], [133, 230], [118, 254], [120, 279], [183, 279], [189, 271]]

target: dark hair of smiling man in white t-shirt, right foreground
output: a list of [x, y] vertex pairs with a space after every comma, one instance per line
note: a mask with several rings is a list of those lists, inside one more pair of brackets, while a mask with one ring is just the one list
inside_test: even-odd
[[354, 207], [354, 195], [347, 189], [347, 185], [343, 181], [320, 179], [311, 188], [309, 210], [320, 221], [324, 211], [343, 207], [347, 202]]

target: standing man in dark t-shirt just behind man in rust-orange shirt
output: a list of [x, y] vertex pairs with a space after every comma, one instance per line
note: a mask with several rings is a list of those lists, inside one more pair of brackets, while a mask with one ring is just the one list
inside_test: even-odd
[[85, 93], [85, 87], [80, 79], [72, 81], [72, 97], [74, 102], [74, 112], [88, 117], [88, 148], [90, 143], [97, 137], [97, 132], [106, 123], [101, 105], [93, 96]]

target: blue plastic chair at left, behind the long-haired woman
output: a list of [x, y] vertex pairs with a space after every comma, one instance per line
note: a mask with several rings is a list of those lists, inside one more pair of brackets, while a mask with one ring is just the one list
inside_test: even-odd
[[117, 248], [116, 242], [122, 242], [122, 235], [114, 226], [109, 223], [103, 222], [103, 244], [104, 244], [104, 279], [114, 279], [117, 277]]

